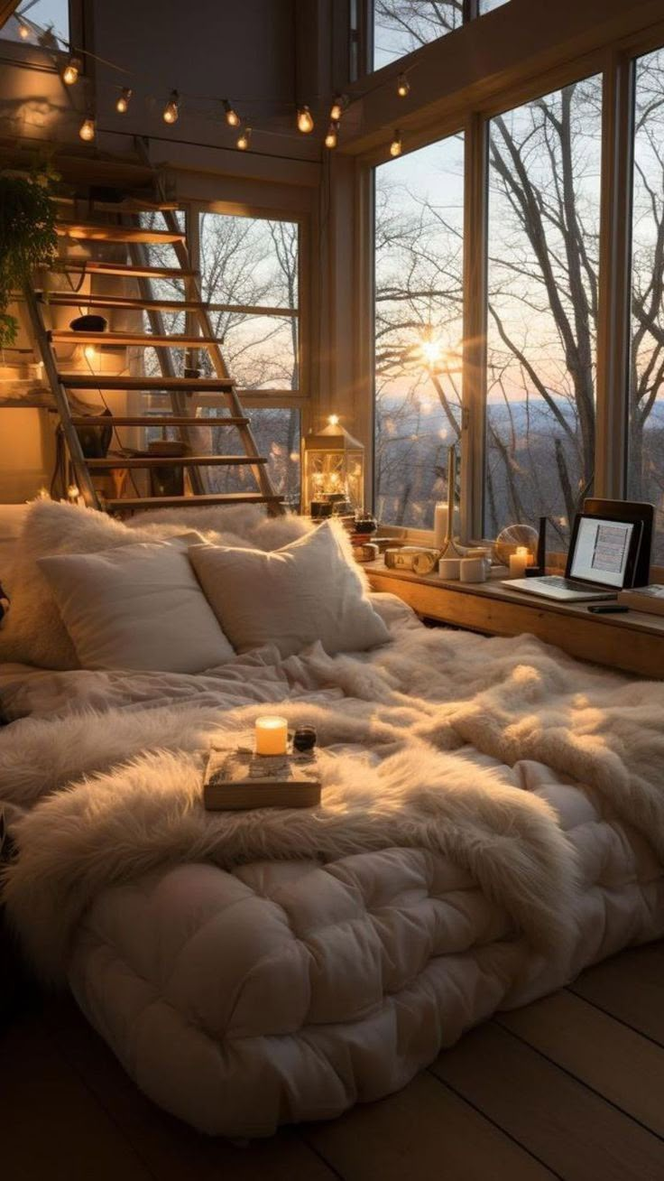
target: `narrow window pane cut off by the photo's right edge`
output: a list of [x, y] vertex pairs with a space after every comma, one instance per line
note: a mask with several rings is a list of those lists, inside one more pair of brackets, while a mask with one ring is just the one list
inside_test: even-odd
[[664, 50], [636, 63], [627, 495], [657, 508], [664, 562]]

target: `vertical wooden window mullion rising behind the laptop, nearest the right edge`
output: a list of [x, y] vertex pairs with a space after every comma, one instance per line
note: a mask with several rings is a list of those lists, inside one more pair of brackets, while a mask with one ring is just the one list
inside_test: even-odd
[[630, 363], [633, 64], [611, 52], [604, 73], [599, 306], [597, 326], [597, 496], [625, 495]]

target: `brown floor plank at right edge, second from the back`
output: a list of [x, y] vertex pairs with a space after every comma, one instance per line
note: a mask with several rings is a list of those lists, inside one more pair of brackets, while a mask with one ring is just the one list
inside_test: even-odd
[[653, 1042], [567, 991], [497, 1020], [664, 1136], [664, 1053]]

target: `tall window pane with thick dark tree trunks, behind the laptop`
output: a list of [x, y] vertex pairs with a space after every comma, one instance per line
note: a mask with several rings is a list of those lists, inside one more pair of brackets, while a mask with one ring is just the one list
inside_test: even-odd
[[485, 531], [561, 541], [594, 470], [601, 79], [489, 125]]

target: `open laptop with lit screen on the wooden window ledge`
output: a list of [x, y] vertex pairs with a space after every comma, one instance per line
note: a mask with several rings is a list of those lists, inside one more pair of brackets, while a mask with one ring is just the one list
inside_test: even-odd
[[564, 578], [550, 574], [505, 579], [501, 585], [558, 602], [614, 599], [618, 590], [633, 586], [642, 533], [640, 521], [580, 513], [574, 521]]

